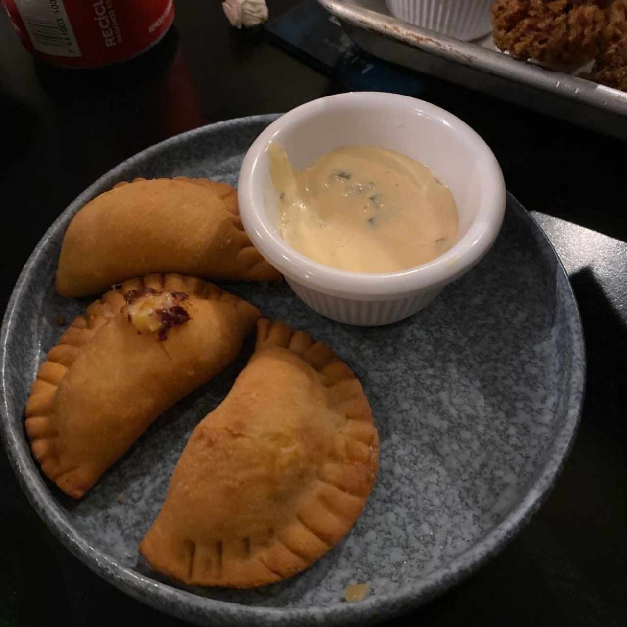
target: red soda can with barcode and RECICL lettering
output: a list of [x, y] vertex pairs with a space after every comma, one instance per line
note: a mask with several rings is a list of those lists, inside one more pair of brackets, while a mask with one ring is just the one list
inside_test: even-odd
[[23, 45], [48, 63], [95, 68], [155, 45], [173, 0], [2, 0]]

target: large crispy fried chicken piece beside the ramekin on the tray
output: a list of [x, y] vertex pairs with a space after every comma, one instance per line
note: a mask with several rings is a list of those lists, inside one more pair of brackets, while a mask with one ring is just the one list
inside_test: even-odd
[[608, 0], [495, 0], [494, 43], [517, 59], [573, 70], [599, 54]]

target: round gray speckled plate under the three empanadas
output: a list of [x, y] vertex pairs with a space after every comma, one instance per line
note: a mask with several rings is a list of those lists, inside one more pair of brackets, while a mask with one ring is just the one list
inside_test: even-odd
[[[26, 263], [4, 319], [4, 441], [19, 482], [56, 537], [140, 601], [213, 626], [362, 624], [424, 603], [502, 547], [539, 506], [574, 436], [585, 378], [577, 306], [555, 251], [511, 196], [502, 233], [480, 265], [394, 325], [331, 322], [285, 284], [226, 286], [266, 316], [330, 344], [361, 379], [381, 435], [379, 477], [361, 519], [290, 581], [256, 591], [183, 588], [150, 571], [137, 553], [187, 437], [224, 397], [246, 351], [157, 420], [78, 503], [42, 477], [24, 438], [29, 385], [62, 331], [55, 317], [70, 321], [89, 302], [53, 289], [71, 216], [137, 176], [234, 184], [246, 149], [273, 119], [215, 124], [144, 150], [61, 214]], [[342, 602], [344, 587], [355, 582], [370, 582], [370, 596]]]

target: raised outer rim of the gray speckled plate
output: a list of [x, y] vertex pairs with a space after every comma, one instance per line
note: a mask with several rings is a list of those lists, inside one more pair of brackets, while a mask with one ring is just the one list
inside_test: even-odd
[[[174, 137], [141, 150], [98, 178], [97, 181], [87, 187], [87, 189], [70, 203], [55, 219], [26, 261], [13, 289], [4, 315], [0, 334], [0, 382], [2, 384], [0, 386], [1, 433], [3, 435], [8, 460], [18, 478], [21, 488], [53, 535], [92, 571], [142, 603], [169, 614], [172, 614], [173, 608], [176, 608], [174, 613], [179, 618], [191, 621], [209, 621], [213, 619], [216, 623], [220, 623], [226, 619], [226, 621], [231, 621], [231, 624], [256, 619], [263, 621], [263, 624], [266, 625], [277, 625], [285, 621], [294, 620], [300, 621], [301, 624], [320, 625], [329, 624], [330, 621], [334, 624], [345, 624], [347, 621], [350, 621], [350, 623], [362, 623], [363, 621], [374, 618], [391, 618], [391, 616], [395, 614], [414, 608], [435, 597], [437, 594], [443, 593], [446, 589], [453, 586], [453, 584], [461, 581], [461, 579], [475, 571], [481, 564], [487, 561], [489, 557], [493, 556], [495, 552], [502, 549], [505, 544], [507, 544], [508, 540], [515, 535], [520, 527], [530, 519], [542, 502], [544, 502], [544, 498], [561, 473], [564, 461], [574, 441], [579, 419], [581, 418], [586, 382], [586, 354], [581, 316], [579, 315], [577, 301], [572, 292], [566, 270], [556, 250], [544, 234], [544, 231], [542, 231], [530, 214], [527, 214], [530, 228], [537, 229], [542, 234], [545, 243], [556, 256], [558, 262], [557, 267], [561, 273], [564, 274], [564, 278], [566, 278], [567, 292], [571, 297], [572, 305], [574, 305], [577, 328], [579, 330], [579, 333], [571, 334], [571, 346], [572, 354], [581, 354], [581, 369], [576, 372], [577, 376], [571, 378], [571, 385], [566, 390], [569, 402], [566, 403], [567, 410], [564, 424], [545, 451], [545, 461], [542, 472], [539, 473], [533, 483], [530, 483], [524, 497], [505, 515], [503, 520], [490, 529], [490, 531], [483, 535], [482, 538], [477, 540], [475, 544], [471, 545], [470, 548], [460, 556], [448, 562], [445, 566], [441, 566], [435, 571], [430, 572], [423, 579], [409, 586], [399, 587], [398, 592], [373, 595], [359, 603], [342, 603], [339, 601], [327, 606], [312, 606], [307, 609], [280, 609], [218, 601], [142, 576], [138, 572], [120, 564], [117, 560], [108, 557], [102, 551], [90, 545], [89, 542], [74, 529], [70, 521], [65, 518], [60, 505], [51, 499], [48, 488], [43, 480], [40, 480], [40, 482], [29, 480], [29, 475], [33, 473], [40, 475], [40, 473], [31, 458], [23, 433], [16, 433], [15, 429], [12, 429], [9, 423], [9, 408], [5, 382], [8, 342], [15, 325], [14, 310], [16, 303], [23, 295], [25, 284], [28, 281], [31, 271], [36, 267], [44, 246], [61, 228], [60, 223], [63, 219], [73, 213], [76, 207], [83, 206], [88, 198], [92, 198], [93, 190], [109, 181], [113, 181], [113, 179], [122, 174], [122, 172], [132, 165], [134, 161], [137, 161], [137, 159], [144, 159], [145, 157], [167, 149], [169, 146], [179, 145], [198, 135], [220, 132], [221, 129], [226, 129], [229, 126], [270, 124], [270, 122], [277, 119], [278, 115], [279, 114], [276, 113], [270, 113], [224, 120], [223, 122], [209, 124], [175, 135]], [[507, 204], [512, 203], [522, 207], [508, 192]], [[40, 507], [39, 503], [45, 503], [46, 507], [43, 505]], [[173, 604], [172, 601], [176, 603]]]

